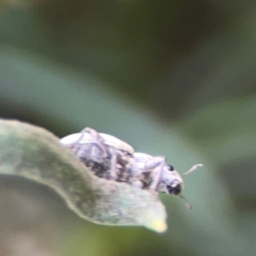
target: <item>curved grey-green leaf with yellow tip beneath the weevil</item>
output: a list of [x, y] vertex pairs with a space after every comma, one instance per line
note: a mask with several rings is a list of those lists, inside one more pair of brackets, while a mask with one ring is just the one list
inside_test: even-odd
[[80, 217], [97, 224], [166, 230], [166, 210], [156, 196], [93, 176], [49, 131], [0, 120], [0, 145], [0, 174], [48, 185]]

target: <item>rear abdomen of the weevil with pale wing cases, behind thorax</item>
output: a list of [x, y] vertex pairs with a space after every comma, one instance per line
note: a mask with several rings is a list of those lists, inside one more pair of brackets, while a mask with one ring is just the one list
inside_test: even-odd
[[71, 148], [96, 176], [128, 182], [134, 153], [129, 144], [91, 128], [63, 137], [61, 144]]

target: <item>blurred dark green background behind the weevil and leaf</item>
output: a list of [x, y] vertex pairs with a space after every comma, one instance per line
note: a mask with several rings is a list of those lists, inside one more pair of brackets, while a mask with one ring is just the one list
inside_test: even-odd
[[90, 224], [58, 195], [0, 177], [1, 256], [254, 255], [256, 3], [1, 0], [0, 116], [58, 137], [85, 126], [166, 155], [189, 211], [168, 230]]

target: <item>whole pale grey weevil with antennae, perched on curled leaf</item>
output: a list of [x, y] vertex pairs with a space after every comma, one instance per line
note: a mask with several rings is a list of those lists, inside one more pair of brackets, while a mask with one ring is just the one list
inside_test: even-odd
[[[137, 153], [131, 145], [108, 134], [85, 128], [61, 139], [97, 177], [125, 182], [139, 189], [181, 195], [183, 178], [163, 156]], [[195, 171], [201, 164], [192, 166]], [[183, 198], [184, 200], [184, 198]], [[189, 203], [187, 203], [188, 206]]]

